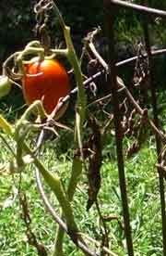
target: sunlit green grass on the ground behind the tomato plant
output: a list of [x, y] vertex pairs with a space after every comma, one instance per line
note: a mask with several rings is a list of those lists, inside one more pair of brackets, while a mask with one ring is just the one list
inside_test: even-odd
[[[110, 148], [112, 150], [113, 148]], [[63, 154], [56, 158], [53, 142], [48, 143], [44, 149], [42, 160], [53, 172], [58, 172], [66, 184], [70, 175], [71, 154]], [[5, 147], [2, 147], [0, 159], [3, 164], [8, 158]], [[154, 146], [146, 145], [130, 160], [126, 161], [125, 173], [127, 179], [128, 201], [131, 213], [131, 226], [133, 231], [134, 248], [136, 255], [161, 255], [161, 220], [160, 220], [160, 195], [159, 181], [155, 169], [156, 154]], [[18, 174], [15, 174], [17, 183]], [[115, 215], [123, 222], [121, 196], [118, 186], [118, 172], [114, 159], [104, 158], [101, 168], [101, 190], [99, 202], [104, 215]], [[6, 199], [12, 198], [16, 193], [13, 178], [7, 173], [7, 169], [1, 171], [0, 176], [0, 251], [2, 256], [6, 255], [37, 255], [36, 250], [27, 242], [25, 225], [20, 218], [18, 198], [11, 205], [6, 205]], [[56, 224], [49, 213], [44, 209], [38, 194], [33, 168], [29, 167], [22, 175], [22, 189], [26, 191], [30, 204], [30, 215], [32, 219], [32, 230], [39, 241], [47, 246], [48, 250], [53, 248], [53, 239]], [[50, 194], [56, 209], [58, 204]], [[99, 217], [95, 206], [89, 212], [86, 211], [87, 203], [87, 179], [77, 186], [77, 193], [73, 206], [77, 224], [82, 232], [89, 237], [100, 240]], [[4, 207], [6, 206], [6, 207]], [[110, 230], [111, 249], [118, 255], [126, 255], [124, 232], [117, 221], [108, 223]], [[65, 255], [82, 255], [72, 242], [65, 237]]]

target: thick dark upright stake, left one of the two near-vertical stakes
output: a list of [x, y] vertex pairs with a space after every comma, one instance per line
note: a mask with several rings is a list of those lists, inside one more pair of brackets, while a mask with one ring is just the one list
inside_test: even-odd
[[119, 173], [119, 182], [121, 189], [121, 198], [123, 204], [123, 214], [125, 223], [125, 237], [126, 245], [129, 256], [134, 256], [133, 241], [130, 227], [129, 209], [126, 194], [125, 184], [125, 166], [123, 156], [123, 134], [121, 126], [121, 116], [119, 111], [119, 100], [117, 95], [117, 81], [116, 81], [116, 70], [115, 70], [115, 58], [114, 58], [114, 33], [113, 33], [113, 21], [114, 21], [114, 6], [111, 6], [110, 10], [107, 9], [107, 1], [103, 2], [105, 7], [105, 18], [106, 18], [106, 34], [109, 39], [109, 74], [108, 84], [111, 86], [110, 90], [113, 94], [113, 115], [114, 115], [114, 128], [115, 128], [115, 141], [116, 141], [116, 154], [117, 164]]

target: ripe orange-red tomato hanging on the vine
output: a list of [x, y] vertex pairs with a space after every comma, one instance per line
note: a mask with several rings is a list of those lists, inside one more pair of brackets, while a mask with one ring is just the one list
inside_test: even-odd
[[44, 59], [26, 65], [23, 78], [23, 95], [28, 105], [41, 99], [43, 108], [50, 114], [59, 98], [70, 91], [69, 78], [65, 68], [57, 60]]

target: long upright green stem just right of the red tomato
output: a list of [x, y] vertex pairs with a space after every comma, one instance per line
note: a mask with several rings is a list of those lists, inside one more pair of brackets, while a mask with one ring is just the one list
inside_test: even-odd
[[[85, 120], [85, 109], [86, 109], [86, 95], [85, 89], [83, 86], [83, 77], [81, 72], [80, 63], [77, 58], [77, 54], [75, 52], [74, 45], [71, 40], [70, 28], [65, 26], [64, 19], [59, 12], [58, 7], [53, 3], [53, 9], [55, 15], [58, 17], [60, 25], [63, 29], [65, 36], [65, 43], [67, 49], [67, 55], [72, 68], [74, 69], [76, 81], [77, 81], [77, 113], [76, 113], [76, 147], [78, 146], [81, 152], [81, 159], [83, 160], [83, 152], [82, 152], [82, 137], [83, 137], [83, 123]], [[74, 193], [76, 191], [77, 183], [79, 177], [82, 173], [82, 160], [74, 159], [72, 174], [68, 185], [68, 199], [71, 201], [73, 199]], [[63, 237], [64, 231], [61, 227], [58, 228], [55, 238], [55, 246], [53, 251], [53, 256], [61, 256], [63, 255]]]

